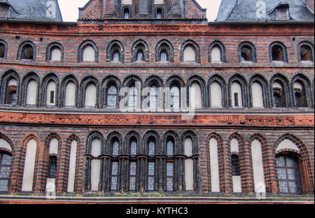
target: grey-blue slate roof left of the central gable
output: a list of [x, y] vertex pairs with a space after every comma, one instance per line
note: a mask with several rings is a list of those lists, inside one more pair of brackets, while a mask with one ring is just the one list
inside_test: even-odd
[[0, 3], [4, 1], [11, 6], [10, 17], [4, 20], [62, 22], [57, 0], [0, 0]]

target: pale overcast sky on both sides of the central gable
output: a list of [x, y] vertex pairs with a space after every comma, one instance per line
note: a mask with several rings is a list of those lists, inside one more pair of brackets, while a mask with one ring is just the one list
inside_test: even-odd
[[[89, 0], [58, 0], [62, 18], [65, 22], [76, 22], [78, 19], [78, 8], [85, 6]], [[207, 8], [207, 18], [210, 21], [216, 19], [221, 0], [197, 0], [202, 8]]]

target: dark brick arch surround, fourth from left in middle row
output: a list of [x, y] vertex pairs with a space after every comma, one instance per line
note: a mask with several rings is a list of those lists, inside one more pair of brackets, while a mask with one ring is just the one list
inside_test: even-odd
[[78, 90], [79, 90], [79, 82], [78, 78], [76, 78], [76, 75], [73, 74], [67, 74], [62, 78], [61, 86], [60, 86], [60, 104], [59, 106], [64, 108], [65, 106], [65, 101], [66, 101], [66, 85], [68, 85], [69, 82], [73, 82], [74, 85], [76, 85], [76, 99], [74, 101], [74, 108], [79, 108], [79, 96], [78, 96]]

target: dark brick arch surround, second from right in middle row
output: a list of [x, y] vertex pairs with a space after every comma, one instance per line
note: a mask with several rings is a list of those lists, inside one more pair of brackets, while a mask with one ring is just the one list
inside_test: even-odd
[[282, 87], [283, 87], [283, 94], [284, 96], [284, 108], [290, 108], [291, 107], [291, 97], [290, 97], [290, 87], [289, 87], [289, 81], [288, 78], [286, 78], [285, 75], [281, 74], [281, 73], [276, 73], [272, 76], [272, 78], [269, 80], [269, 88], [270, 88], [270, 106], [271, 108], [275, 108], [274, 107], [274, 89], [273, 89], [273, 85], [274, 82], [276, 82], [276, 80], [278, 80], [279, 82], [282, 83]]

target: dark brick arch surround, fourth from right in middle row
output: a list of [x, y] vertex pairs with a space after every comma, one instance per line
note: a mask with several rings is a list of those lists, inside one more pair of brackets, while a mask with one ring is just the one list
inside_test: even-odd
[[230, 108], [232, 107], [232, 83], [237, 82], [239, 86], [241, 87], [241, 100], [242, 100], [242, 106], [237, 108], [248, 108], [248, 93], [247, 93], [247, 81], [246, 78], [244, 78], [243, 75], [236, 73], [232, 75], [228, 82], [228, 99], [229, 104], [228, 106]]

